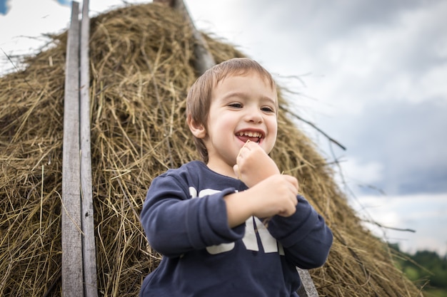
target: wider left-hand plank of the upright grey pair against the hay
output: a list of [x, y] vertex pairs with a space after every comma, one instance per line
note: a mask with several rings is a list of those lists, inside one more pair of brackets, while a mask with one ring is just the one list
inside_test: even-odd
[[84, 296], [79, 157], [79, 3], [71, 4], [66, 49], [62, 150], [62, 296]]

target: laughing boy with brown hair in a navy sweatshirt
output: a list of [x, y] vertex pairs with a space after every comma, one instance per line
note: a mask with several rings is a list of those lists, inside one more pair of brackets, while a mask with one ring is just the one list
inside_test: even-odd
[[267, 155], [278, 113], [271, 74], [231, 59], [201, 75], [186, 104], [204, 162], [149, 187], [141, 224], [164, 258], [140, 296], [298, 296], [296, 266], [322, 266], [332, 233]]

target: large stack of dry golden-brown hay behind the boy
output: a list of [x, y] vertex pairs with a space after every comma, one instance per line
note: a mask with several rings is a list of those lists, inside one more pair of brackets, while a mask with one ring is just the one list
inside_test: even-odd
[[[243, 56], [206, 36], [219, 63]], [[61, 295], [61, 160], [66, 33], [0, 78], [0, 295]], [[156, 175], [198, 156], [186, 129], [196, 79], [194, 39], [157, 4], [91, 20], [91, 154], [101, 296], [137, 296], [159, 264], [139, 224]], [[311, 271], [321, 296], [422, 296], [391, 251], [361, 226], [316, 147], [281, 98], [272, 157], [301, 182], [334, 233], [328, 262]]]

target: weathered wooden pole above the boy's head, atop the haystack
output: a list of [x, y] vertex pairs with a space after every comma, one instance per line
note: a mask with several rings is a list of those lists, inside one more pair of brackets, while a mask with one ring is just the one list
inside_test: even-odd
[[178, 10], [189, 23], [189, 26], [191, 26], [194, 39], [196, 40], [196, 44], [194, 44], [194, 68], [196, 68], [197, 74], [202, 75], [206, 70], [216, 65], [216, 61], [214, 61], [214, 58], [209, 51], [208, 43], [206, 43], [204, 36], [197, 30], [196, 26], [194, 26], [194, 21], [191, 19], [191, 15], [189, 14], [188, 9], [186, 9], [184, 1], [154, 0], [154, 2], [168, 4], [173, 9]]

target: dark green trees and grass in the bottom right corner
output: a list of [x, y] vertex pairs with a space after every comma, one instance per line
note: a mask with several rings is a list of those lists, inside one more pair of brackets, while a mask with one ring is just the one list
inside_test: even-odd
[[434, 251], [416, 251], [406, 254], [396, 244], [389, 244], [398, 251], [395, 256], [396, 266], [411, 281], [423, 287], [426, 297], [447, 297], [447, 255], [441, 257]]

